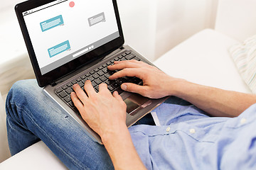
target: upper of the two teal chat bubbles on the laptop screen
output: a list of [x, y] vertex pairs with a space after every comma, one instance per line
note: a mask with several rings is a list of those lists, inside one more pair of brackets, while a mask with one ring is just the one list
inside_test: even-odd
[[60, 26], [64, 23], [62, 15], [56, 16], [54, 18], [50, 18], [47, 21], [43, 21], [40, 23], [42, 31], [50, 30], [51, 28], [55, 28], [56, 26]]

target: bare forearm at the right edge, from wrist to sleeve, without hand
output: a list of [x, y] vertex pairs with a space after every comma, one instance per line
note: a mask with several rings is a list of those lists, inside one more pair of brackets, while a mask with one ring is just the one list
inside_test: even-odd
[[183, 98], [213, 116], [235, 117], [256, 103], [256, 96], [178, 81], [174, 96]]

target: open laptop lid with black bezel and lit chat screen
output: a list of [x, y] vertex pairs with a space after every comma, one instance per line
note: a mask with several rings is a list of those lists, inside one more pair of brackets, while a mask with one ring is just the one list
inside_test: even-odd
[[15, 10], [41, 87], [124, 44], [116, 0], [30, 0]]

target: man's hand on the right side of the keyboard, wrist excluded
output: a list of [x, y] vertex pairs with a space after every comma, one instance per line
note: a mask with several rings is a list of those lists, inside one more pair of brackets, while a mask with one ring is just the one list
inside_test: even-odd
[[132, 83], [124, 83], [121, 88], [124, 91], [129, 91], [149, 98], [162, 98], [165, 96], [174, 95], [176, 82], [183, 81], [169, 77], [169, 75], [161, 72], [161, 70], [144, 62], [137, 60], [114, 62], [114, 65], [109, 66], [110, 70], [120, 70], [113, 74], [110, 79], [118, 79], [121, 77], [138, 77], [142, 79], [143, 86]]

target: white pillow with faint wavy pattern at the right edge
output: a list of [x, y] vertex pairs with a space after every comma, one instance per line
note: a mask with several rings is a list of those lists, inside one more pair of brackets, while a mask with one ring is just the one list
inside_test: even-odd
[[256, 35], [230, 47], [230, 54], [245, 83], [256, 94]]

